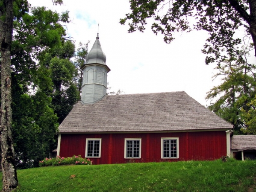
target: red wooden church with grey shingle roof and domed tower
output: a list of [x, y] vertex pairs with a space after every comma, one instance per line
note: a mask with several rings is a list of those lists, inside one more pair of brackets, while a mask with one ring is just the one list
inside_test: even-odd
[[233, 126], [183, 91], [106, 95], [110, 69], [98, 35], [82, 69], [81, 102], [59, 126], [57, 155], [94, 164], [230, 156]]

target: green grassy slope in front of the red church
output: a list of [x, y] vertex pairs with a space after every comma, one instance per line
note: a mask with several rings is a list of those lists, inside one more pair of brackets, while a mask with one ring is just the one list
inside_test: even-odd
[[18, 170], [17, 192], [256, 190], [256, 161], [56, 166]]

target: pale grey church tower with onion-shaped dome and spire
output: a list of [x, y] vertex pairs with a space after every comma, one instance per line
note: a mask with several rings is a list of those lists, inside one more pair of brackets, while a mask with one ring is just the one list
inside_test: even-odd
[[101, 49], [99, 34], [97, 33], [91, 51], [86, 56], [86, 63], [81, 67], [82, 79], [82, 104], [92, 104], [106, 96], [107, 73], [110, 71], [106, 65], [106, 55]]

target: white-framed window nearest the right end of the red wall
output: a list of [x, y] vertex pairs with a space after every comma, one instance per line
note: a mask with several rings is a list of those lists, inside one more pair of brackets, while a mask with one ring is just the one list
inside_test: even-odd
[[179, 158], [179, 138], [178, 137], [161, 138], [161, 158], [162, 159]]

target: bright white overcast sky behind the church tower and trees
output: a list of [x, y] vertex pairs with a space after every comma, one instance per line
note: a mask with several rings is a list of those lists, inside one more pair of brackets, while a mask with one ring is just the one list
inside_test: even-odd
[[[63, 0], [53, 6], [51, 0], [28, 0], [32, 6], [45, 6], [53, 11], [69, 11], [68, 36], [78, 46], [89, 43], [91, 49], [99, 30], [100, 44], [106, 54], [109, 87], [124, 93], [157, 93], [185, 91], [202, 105], [217, 81], [212, 81], [215, 64], [206, 65], [201, 53], [206, 32], [176, 33], [171, 44], [156, 36], [150, 26], [144, 33], [128, 33], [120, 18], [129, 12], [129, 0]], [[149, 20], [150, 22], [150, 20]], [[99, 23], [99, 29], [98, 29]]]

